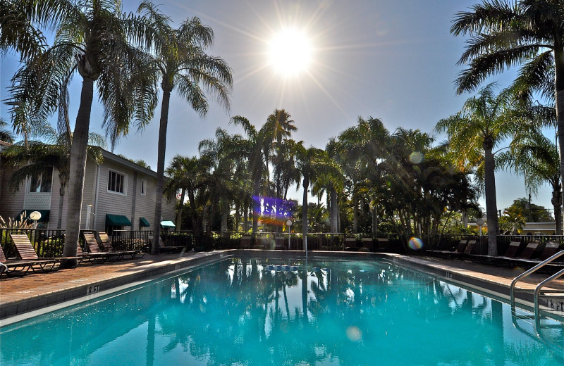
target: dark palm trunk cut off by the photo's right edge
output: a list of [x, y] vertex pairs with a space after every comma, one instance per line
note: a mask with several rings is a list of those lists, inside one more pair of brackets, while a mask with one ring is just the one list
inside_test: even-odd
[[[562, 189], [564, 189], [564, 50], [562, 48], [554, 49], [554, 68], [556, 69], [554, 75], [554, 84], [556, 88], [556, 126], [558, 127], [558, 147], [560, 151], [560, 181]], [[564, 191], [562, 191], [564, 197]], [[558, 214], [562, 215], [561, 208], [558, 208]], [[556, 218], [556, 210], [554, 210]], [[558, 222], [558, 221], [557, 221]], [[557, 227], [557, 232], [562, 232], [562, 221], [560, 227]]]

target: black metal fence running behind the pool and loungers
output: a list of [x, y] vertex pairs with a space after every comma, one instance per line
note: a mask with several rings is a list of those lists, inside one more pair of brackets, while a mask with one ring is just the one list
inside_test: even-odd
[[[0, 244], [7, 258], [16, 257], [9, 233], [25, 232], [40, 257], [58, 257], [63, 253], [64, 229], [10, 229], [0, 228]], [[92, 231], [92, 230], [88, 230]], [[81, 231], [82, 232], [82, 231]], [[116, 250], [150, 251], [149, 238], [152, 230], [114, 230], [111, 239]], [[260, 248], [302, 250], [302, 234], [287, 232], [259, 232], [254, 243], [251, 235], [245, 232], [211, 232], [201, 239], [195, 239], [190, 231], [161, 232], [164, 246], [183, 246], [187, 251], [211, 251], [232, 248]], [[429, 251], [454, 251], [462, 239], [475, 239], [477, 244], [472, 253], [487, 254], [487, 236], [442, 234], [432, 237], [411, 238], [398, 234], [381, 234], [372, 237], [367, 234], [310, 233], [307, 234], [307, 248], [310, 251], [386, 251], [392, 253], [429, 253]], [[500, 235], [497, 237], [498, 253], [503, 255], [511, 241], [520, 241], [525, 248], [530, 241], [540, 241], [541, 246], [548, 241], [560, 244], [564, 249], [564, 236], [557, 235]], [[82, 245], [82, 236], [81, 236]]]

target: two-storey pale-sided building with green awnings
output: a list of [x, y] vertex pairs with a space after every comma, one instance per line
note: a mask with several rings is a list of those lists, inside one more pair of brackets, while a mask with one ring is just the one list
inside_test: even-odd
[[[10, 144], [0, 141], [0, 153]], [[86, 164], [80, 229], [112, 232], [114, 229], [152, 229], [154, 227], [157, 172], [130, 160], [102, 151], [100, 165]], [[59, 217], [58, 170], [45, 167], [40, 177], [27, 179], [18, 191], [8, 187], [13, 168], [6, 167], [0, 156], [0, 216], [16, 218], [32, 211], [42, 214], [39, 227], [56, 228]], [[68, 192], [63, 196], [61, 228], [66, 225]], [[174, 221], [176, 202], [163, 199], [161, 221]], [[160, 222], [159, 222], [160, 224]]]

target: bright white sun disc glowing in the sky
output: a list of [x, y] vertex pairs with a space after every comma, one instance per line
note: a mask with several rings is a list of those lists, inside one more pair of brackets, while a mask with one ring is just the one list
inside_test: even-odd
[[281, 30], [269, 42], [269, 63], [283, 76], [294, 76], [307, 70], [311, 57], [309, 39], [299, 30]]

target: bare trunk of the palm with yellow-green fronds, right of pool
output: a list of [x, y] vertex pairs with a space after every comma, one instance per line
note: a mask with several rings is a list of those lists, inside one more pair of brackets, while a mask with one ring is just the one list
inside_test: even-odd
[[496, 164], [491, 152], [492, 143], [484, 141], [484, 180], [486, 185], [486, 221], [488, 223], [488, 255], [498, 255], [497, 235], [499, 234], [498, 206], [496, 203]]

